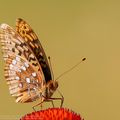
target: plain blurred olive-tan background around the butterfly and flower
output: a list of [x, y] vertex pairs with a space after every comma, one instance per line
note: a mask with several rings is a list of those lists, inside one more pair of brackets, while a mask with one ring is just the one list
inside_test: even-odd
[[[120, 120], [120, 1], [0, 0], [0, 23], [15, 27], [19, 17], [32, 26], [51, 56], [55, 78], [87, 58], [59, 79], [64, 107], [85, 120]], [[39, 101], [15, 103], [3, 66], [0, 52], [0, 120], [18, 119]]]

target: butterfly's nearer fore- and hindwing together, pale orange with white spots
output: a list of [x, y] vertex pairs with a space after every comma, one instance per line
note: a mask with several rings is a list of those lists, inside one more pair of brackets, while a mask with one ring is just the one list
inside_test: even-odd
[[44, 93], [45, 78], [30, 46], [7, 24], [0, 26], [5, 78], [16, 102], [32, 102]]

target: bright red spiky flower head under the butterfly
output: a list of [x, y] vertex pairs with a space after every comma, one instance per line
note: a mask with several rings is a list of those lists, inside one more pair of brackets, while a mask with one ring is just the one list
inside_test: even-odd
[[65, 108], [49, 108], [25, 115], [20, 120], [84, 120], [77, 113]]

